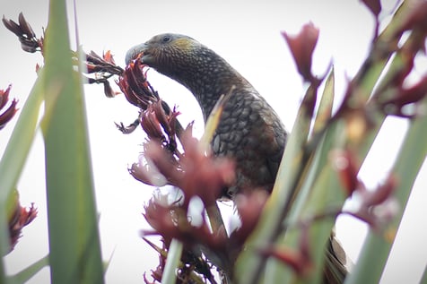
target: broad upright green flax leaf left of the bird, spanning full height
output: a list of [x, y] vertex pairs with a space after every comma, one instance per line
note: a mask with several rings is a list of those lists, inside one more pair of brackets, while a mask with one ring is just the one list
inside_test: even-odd
[[45, 100], [52, 283], [102, 283], [103, 268], [81, 74], [74, 71], [65, 1], [49, 4]]

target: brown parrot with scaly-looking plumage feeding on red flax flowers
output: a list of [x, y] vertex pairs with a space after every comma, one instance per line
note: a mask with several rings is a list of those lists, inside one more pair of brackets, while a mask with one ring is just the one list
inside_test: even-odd
[[[205, 120], [222, 94], [231, 92], [212, 142], [214, 155], [227, 156], [236, 162], [235, 185], [222, 195], [232, 198], [241, 191], [258, 188], [270, 192], [287, 132], [266, 99], [221, 56], [184, 35], [157, 35], [131, 48], [126, 64], [136, 56], [141, 56], [143, 64], [187, 87], [196, 97]], [[328, 261], [335, 261], [331, 245], [327, 255]], [[344, 267], [335, 267], [332, 273], [336, 271], [338, 278], [344, 279]]]

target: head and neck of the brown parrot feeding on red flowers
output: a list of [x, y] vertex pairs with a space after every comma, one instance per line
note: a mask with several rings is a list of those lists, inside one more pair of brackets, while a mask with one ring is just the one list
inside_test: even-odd
[[127, 51], [126, 65], [137, 58], [187, 87], [201, 105], [205, 118], [232, 86], [248, 85], [221, 56], [185, 35], [164, 33], [132, 47]]

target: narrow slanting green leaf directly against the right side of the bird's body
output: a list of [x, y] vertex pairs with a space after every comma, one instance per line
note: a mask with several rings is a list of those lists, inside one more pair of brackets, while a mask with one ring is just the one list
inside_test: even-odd
[[257, 250], [274, 242], [274, 238], [281, 230], [283, 215], [285, 215], [283, 212], [288, 212], [292, 204], [298, 178], [303, 171], [303, 148], [308, 139], [312, 118], [307, 102], [312, 101], [315, 96], [314, 91], [311, 87], [307, 90], [296, 123], [288, 138], [273, 192], [266, 202], [257, 228], [247, 241], [248, 249], [240, 254], [236, 262], [235, 275], [239, 283], [255, 283], [255, 280], [261, 276], [265, 259], [257, 253]]

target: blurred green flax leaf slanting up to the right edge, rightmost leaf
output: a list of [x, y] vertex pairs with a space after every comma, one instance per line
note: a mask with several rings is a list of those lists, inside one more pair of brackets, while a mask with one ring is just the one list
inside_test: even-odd
[[[423, 100], [423, 108], [427, 108], [427, 99]], [[389, 225], [386, 233], [394, 236], [405, 210], [406, 203], [414, 180], [423, 165], [427, 154], [427, 116], [415, 119], [399, 151], [394, 167], [393, 175], [397, 176], [399, 184], [396, 188], [396, 199], [400, 203], [401, 209], [397, 213], [395, 220]], [[393, 245], [394, 237], [379, 235], [370, 230], [362, 246], [362, 252], [358, 264], [354, 267], [346, 284], [353, 283], [378, 283], [382, 271], [386, 265], [388, 254]]]

